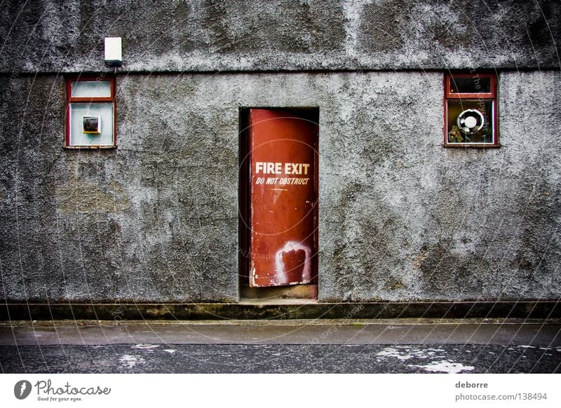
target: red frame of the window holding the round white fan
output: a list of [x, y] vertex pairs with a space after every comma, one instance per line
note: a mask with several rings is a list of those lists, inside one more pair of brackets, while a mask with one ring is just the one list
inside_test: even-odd
[[[455, 93], [452, 91], [452, 86], [450, 83], [453, 78], [489, 78], [490, 82], [490, 92], [480, 92], [480, 93]], [[454, 74], [447, 73], [444, 75], [444, 147], [500, 147], [499, 143], [499, 109], [497, 103], [497, 92], [496, 92], [496, 74], [480, 74], [480, 73], [470, 73], [470, 74]], [[492, 130], [493, 130], [493, 142], [492, 143], [451, 143], [448, 142], [448, 100], [481, 100], [481, 101], [492, 101], [493, 102], [493, 117], [492, 117]]]

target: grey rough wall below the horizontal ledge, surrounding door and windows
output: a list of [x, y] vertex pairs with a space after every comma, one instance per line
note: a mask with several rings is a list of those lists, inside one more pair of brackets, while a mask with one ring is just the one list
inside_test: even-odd
[[560, 72], [499, 75], [501, 149], [444, 149], [442, 73], [117, 77], [69, 151], [65, 81], [4, 76], [8, 301], [238, 297], [238, 107], [320, 109], [320, 300], [558, 299]]

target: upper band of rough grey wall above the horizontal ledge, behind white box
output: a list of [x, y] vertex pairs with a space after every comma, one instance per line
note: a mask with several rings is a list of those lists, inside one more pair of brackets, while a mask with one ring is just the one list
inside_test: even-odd
[[0, 72], [560, 67], [558, 1], [11, 1]]

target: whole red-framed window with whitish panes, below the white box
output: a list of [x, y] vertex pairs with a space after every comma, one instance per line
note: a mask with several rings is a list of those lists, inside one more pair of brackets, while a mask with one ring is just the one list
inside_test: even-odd
[[67, 78], [65, 147], [116, 147], [115, 111], [114, 78]]

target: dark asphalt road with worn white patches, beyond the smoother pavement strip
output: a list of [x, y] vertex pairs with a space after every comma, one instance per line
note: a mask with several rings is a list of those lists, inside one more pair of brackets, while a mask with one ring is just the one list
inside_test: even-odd
[[559, 373], [561, 348], [481, 345], [2, 346], [4, 373]]

